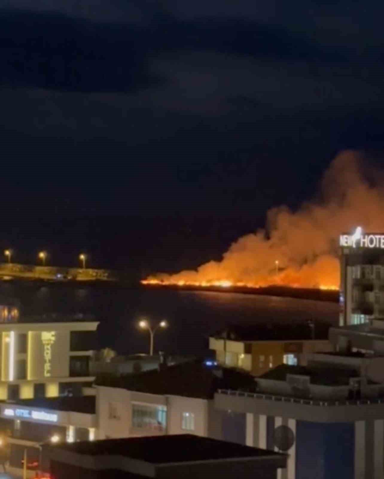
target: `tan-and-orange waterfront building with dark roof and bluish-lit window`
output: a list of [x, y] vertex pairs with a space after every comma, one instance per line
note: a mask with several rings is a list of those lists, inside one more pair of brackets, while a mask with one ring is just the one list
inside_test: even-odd
[[[304, 365], [306, 353], [333, 351], [328, 339], [310, 339], [313, 323], [276, 327], [234, 326], [209, 338], [219, 365], [243, 369], [260, 376], [280, 364]], [[320, 325], [318, 336], [326, 338], [328, 328]]]

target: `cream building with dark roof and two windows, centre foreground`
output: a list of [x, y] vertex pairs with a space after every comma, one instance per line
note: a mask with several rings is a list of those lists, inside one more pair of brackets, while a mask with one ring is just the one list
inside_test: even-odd
[[[211, 364], [211, 362], [208, 362]], [[97, 381], [100, 439], [192, 433], [237, 442], [237, 423], [222, 421], [220, 386], [253, 388], [253, 377], [201, 362]]]

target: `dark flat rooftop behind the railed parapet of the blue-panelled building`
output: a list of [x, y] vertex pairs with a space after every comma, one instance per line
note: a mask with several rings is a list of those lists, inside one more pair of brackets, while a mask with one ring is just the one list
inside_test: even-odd
[[309, 376], [311, 384], [322, 386], [348, 386], [351, 377], [360, 376], [354, 369], [342, 369], [338, 365], [326, 367], [290, 366], [282, 364], [266, 372], [260, 379], [286, 381], [288, 374]]

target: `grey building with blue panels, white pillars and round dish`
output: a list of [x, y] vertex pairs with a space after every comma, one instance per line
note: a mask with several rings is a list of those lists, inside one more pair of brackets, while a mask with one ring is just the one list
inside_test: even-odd
[[307, 363], [272, 369], [256, 393], [220, 389], [215, 408], [237, 418], [243, 444], [288, 454], [278, 479], [382, 479], [384, 384], [366, 375], [376, 359], [310, 354]]

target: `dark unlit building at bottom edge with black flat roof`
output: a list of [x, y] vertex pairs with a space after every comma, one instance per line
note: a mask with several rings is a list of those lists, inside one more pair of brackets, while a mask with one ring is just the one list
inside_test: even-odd
[[52, 479], [276, 479], [284, 454], [192, 434], [47, 446]]

